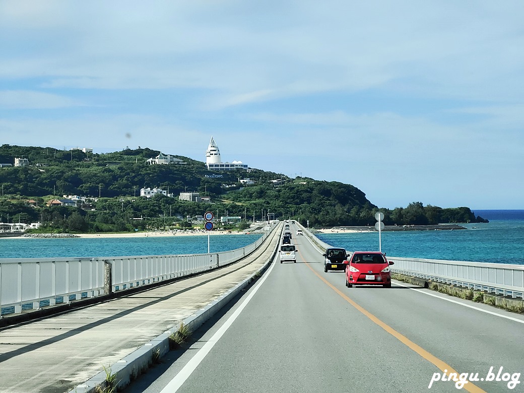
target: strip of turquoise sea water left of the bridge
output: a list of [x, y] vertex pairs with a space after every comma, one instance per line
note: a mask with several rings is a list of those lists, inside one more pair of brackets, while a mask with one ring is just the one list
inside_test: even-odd
[[[210, 236], [210, 252], [220, 253], [255, 243], [260, 235]], [[206, 254], [208, 236], [111, 238], [2, 238], [0, 258], [118, 257]]]

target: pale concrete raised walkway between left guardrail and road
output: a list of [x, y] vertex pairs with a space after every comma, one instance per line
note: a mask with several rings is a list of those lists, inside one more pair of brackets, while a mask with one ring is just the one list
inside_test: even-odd
[[62, 393], [176, 326], [270, 261], [281, 226], [243, 261], [0, 330], [0, 392]]

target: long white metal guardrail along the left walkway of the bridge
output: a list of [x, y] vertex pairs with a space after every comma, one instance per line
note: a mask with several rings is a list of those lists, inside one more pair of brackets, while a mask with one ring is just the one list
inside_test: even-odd
[[0, 318], [224, 266], [254, 252], [275, 227], [255, 243], [222, 253], [0, 259]]

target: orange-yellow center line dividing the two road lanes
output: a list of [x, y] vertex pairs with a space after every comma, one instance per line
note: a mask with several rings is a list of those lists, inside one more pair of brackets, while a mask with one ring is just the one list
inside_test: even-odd
[[[299, 252], [300, 254], [300, 252]], [[302, 257], [302, 255], [300, 255], [300, 257]], [[422, 356], [424, 359], [426, 359], [427, 361], [431, 362], [432, 364], [434, 364], [437, 368], [439, 368], [442, 373], [446, 373], [446, 375], [450, 375], [451, 373], [456, 373], [456, 375], [460, 375], [459, 372], [457, 372], [453, 367], [451, 367], [449, 364], [441, 361], [441, 359], [439, 359], [438, 357], [430, 354], [428, 351], [424, 350], [424, 348], [422, 348], [421, 346], [415, 344], [414, 342], [412, 342], [411, 340], [408, 339], [408, 337], [406, 337], [405, 335], [397, 332], [395, 329], [391, 328], [391, 326], [389, 326], [388, 324], [382, 322], [381, 320], [379, 320], [375, 315], [373, 315], [372, 313], [370, 313], [369, 311], [367, 311], [366, 309], [364, 309], [363, 307], [361, 307], [360, 305], [358, 305], [357, 303], [355, 303], [354, 300], [350, 299], [349, 297], [347, 297], [347, 295], [342, 292], [341, 290], [339, 290], [338, 288], [334, 287], [328, 280], [326, 280], [324, 277], [322, 277], [321, 275], [319, 275], [312, 267], [311, 265], [305, 261], [304, 258], [302, 258], [304, 260], [304, 263], [311, 269], [311, 271], [318, 277], [320, 278], [322, 281], [324, 281], [326, 283], [326, 285], [328, 285], [328, 287], [330, 287], [331, 289], [333, 289], [336, 293], [338, 293], [345, 301], [347, 301], [348, 303], [350, 303], [354, 308], [356, 308], [358, 311], [360, 311], [361, 313], [363, 313], [364, 315], [367, 316], [367, 318], [369, 318], [370, 320], [372, 320], [373, 322], [375, 322], [378, 326], [380, 326], [380, 328], [384, 329], [386, 332], [388, 332], [389, 334], [391, 334], [392, 336], [394, 336], [398, 341], [400, 341], [402, 344], [405, 344], [406, 346], [408, 346], [409, 348], [411, 348], [411, 350], [413, 350], [414, 352], [418, 353], [420, 356]], [[445, 370], [445, 371], [444, 371]], [[476, 385], [473, 385], [471, 383], [471, 381], [468, 381], [467, 384], [464, 384], [464, 387], [463, 387], [464, 390], [467, 390], [471, 393], [486, 393], [485, 390], [479, 388], [478, 386]]]

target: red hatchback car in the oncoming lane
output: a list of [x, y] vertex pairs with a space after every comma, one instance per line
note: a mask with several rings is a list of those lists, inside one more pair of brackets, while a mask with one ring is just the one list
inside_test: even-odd
[[386, 255], [378, 251], [355, 251], [345, 260], [346, 287], [354, 285], [381, 285], [391, 288], [391, 272]]

